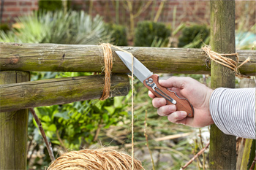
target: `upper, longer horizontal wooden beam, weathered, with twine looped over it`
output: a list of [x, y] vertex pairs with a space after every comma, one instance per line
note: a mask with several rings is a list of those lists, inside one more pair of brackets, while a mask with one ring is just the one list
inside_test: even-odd
[[[132, 53], [151, 72], [210, 74], [206, 55], [200, 49], [121, 47]], [[112, 50], [117, 50], [115, 47]], [[255, 75], [256, 50], [237, 50], [239, 61], [251, 57], [240, 72]], [[129, 72], [113, 53], [113, 73]], [[102, 48], [98, 45], [18, 44], [0, 42], [0, 69], [29, 72], [102, 72]]]

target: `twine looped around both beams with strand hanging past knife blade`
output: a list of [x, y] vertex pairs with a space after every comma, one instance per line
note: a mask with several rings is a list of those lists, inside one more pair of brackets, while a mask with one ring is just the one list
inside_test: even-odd
[[102, 97], [99, 98], [100, 100], [105, 100], [106, 98], [109, 97], [110, 93], [110, 74], [113, 66], [113, 53], [111, 50], [111, 47], [115, 47], [118, 50], [121, 50], [125, 53], [128, 53], [131, 58], [132, 58], [132, 170], [135, 168], [134, 167], [134, 111], [133, 111], [133, 55], [132, 53], [127, 52], [126, 50], [121, 49], [120, 47], [117, 47], [115, 45], [110, 45], [108, 43], [102, 43], [100, 45], [103, 49], [103, 56], [104, 56], [104, 63], [105, 63], [105, 83], [104, 83], [104, 88], [102, 92]]

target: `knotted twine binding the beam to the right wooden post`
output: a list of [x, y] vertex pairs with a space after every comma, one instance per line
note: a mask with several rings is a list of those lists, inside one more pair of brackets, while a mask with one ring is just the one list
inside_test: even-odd
[[[202, 47], [202, 49], [206, 52], [208, 58], [210, 58], [212, 61], [215, 61], [219, 64], [222, 64], [223, 66], [227, 66], [228, 68], [232, 69], [237, 77], [249, 77], [240, 74], [239, 68], [244, 65], [244, 63], [247, 63], [250, 61], [250, 57], [248, 57], [243, 63], [239, 64], [239, 56], [238, 53], [231, 53], [231, 54], [219, 54], [211, 50], [211, 47], [208, 45], [205, 45]], [[231, 58], [227, 58], [225, 56], [236, 56], [236, 61], [234, 61]]]

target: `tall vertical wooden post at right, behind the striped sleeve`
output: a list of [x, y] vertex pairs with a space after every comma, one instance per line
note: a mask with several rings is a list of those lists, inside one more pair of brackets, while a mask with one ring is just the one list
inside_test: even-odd
[[[210, 45], [217, 53], [236, 53], [235, 0], [211, 0]], [[211, 88], [219, 87], [235, 88], [235, 74], [212, 61]], [[236, 169], [236, 136], [223, 134], [216, 125], [210, 133], [210, 169]]]

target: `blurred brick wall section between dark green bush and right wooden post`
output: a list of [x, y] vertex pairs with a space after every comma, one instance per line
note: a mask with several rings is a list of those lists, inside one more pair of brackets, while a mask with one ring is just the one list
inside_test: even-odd
[[[165, 1], [161, 15], [158, 21], [172, 23], [173, 17], [176, 18], [176, 25], [181, 22], [208, 23], [210, 16], [210, 2], [197, 1]], [[129, 23], [129, 12], [125, 7], [125, 1], [119, 1], [118, 5], [118, 23]], [[132, 1], [133, 13], [137, 13], [140, 7], [145, 7], [147, 1]], [[135, 23], [139, 20], [154, 20], [157, 15], [161, 1], [153, 1], [151, 5], [144, 10], [138, 18], [135, 18]], [[90, 11], [91, 15], [102, 15], [108, 22], [116, 23], [116, 2], [114, 1], [90, 1], [77, 0], [72, 1], [73, 9], [83, 9]], [[173, 15], [173, 10], [176, 9]]]

